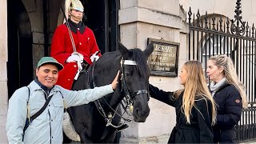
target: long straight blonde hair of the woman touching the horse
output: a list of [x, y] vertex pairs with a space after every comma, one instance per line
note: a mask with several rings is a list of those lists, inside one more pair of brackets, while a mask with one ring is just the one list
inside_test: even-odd
[[[188, 61], [184, 64], [184, 68], [187, 70], [186, 84], [182, 99], [182, 112], [184, 112], [186, 117], [186, 122], [190, 123], [190, 114], [194, 106], [194, 99], [196, 95], [202, 96], [202, 98], [211, 102], [212, 119], [211, 124], [214, 125], [216, 122], [216, 106], [214, 98], [211, 96], [210, 91], [206, 85], [206, 78], [202, 70], [202, 63], [198, 61]], [[178, 90], [180, 94], [181, 91]], [[207, 103], [207, 102], [206, 102]], [[197, 107], [195, 106], [197, 109]], [[197, 109], [198, 110], [198, 109]], [[200, 111], [199, 111], [200, 112]]]

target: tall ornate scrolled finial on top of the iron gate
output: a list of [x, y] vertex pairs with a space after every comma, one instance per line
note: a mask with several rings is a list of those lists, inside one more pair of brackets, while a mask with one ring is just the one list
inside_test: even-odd
[[[236, 9], [234, 10], [235, 14], [234, 15], [234, 20], [231, 20], [231, 27], [230, 27], [230, 31], [232, 34], [237, 34], [237, 35], [244, 35], [246, 32], [246, 22], [242, 22], [242, 16], [240, 16], [240, 14], [242, 14], [242, 10], [241, 10], [241, 0], [238, 0], [236, 2], [237, 6]], [[241, 23], [242, 26], [239, 26], [239, 24]]]

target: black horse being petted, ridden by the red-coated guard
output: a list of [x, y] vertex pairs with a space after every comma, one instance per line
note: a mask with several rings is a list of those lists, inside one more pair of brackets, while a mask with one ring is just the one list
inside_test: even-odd
[[120, 70], [120, 80], [114, 93], [96, 102], [68, 109], [74, 130], [79, 134], [82, 143], [114, 142], [116, 127], [122, 123], [121, 108], [118, 105], [123, 98], [126, 98], [126, 102], [130, 101], [134, 107], [130, 107], [133, 110], [134, 121], [146, 121], [150, 114], [150, 70], [146, 60], [153, 49], [153, 44], [150, 44], [144, 51], [136, 48], [127, 50], [119, 42], [117, 51], [103, 54], [88, 70], [80, 74], [73, 90], [110, 84]]

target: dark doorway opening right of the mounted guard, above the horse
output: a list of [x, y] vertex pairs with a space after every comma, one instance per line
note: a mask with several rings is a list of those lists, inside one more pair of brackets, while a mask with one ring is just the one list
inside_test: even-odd
[[118, 0], [83, 0], [85, 8], [84, 22], [94, 31], [98, 47], [102, 54], [116, 50], [119, 38]]

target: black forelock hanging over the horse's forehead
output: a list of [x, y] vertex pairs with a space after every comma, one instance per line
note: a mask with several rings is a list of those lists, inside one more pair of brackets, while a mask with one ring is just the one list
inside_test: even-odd
[[132, 60], [137, 62], [136, 68], [141, 75], [150, 75], [149, 66], [146, 63], [146, 56], [142, 53], [142, 50], [138, 48], [130, 49], [129, 53], [132, 53]]

